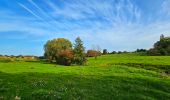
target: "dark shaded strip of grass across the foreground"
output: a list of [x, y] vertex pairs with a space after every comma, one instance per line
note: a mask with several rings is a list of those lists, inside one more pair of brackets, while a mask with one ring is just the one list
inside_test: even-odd
[[169, 80], [126, 76], [85, 76], [0, 72], [0, 100], [111, 100], [170, 98]]

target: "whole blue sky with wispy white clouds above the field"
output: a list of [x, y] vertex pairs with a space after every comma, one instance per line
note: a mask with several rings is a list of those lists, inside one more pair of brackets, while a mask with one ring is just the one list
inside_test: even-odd
[[0, 54], [43, 55], [49, 39], [133, 51], [170, 36], [170, 0], [0, 0]]

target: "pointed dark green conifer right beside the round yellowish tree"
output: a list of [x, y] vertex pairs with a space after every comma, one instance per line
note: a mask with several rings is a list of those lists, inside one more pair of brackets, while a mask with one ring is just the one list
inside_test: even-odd
[[77, 37], [73, 49], [73, 63], [82, 65], [86, 62], [85, 47], [83, 46], [83, 41], [80, 37]]

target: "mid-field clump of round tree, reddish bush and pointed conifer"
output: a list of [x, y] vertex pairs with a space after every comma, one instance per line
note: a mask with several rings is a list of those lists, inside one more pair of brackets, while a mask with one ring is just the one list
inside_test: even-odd
[[50, 62], [62, 65], [72, 63], [82, 65], [86, 61], [85, 47], [80, 37], [77, 37], [72, 48], [72, 43], [64, 38], [47, 41], [44, 45], [44, 56]]

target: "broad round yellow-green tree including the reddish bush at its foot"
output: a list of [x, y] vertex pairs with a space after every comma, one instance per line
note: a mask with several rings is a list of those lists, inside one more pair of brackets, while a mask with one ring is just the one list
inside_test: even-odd
[[58, 38], [47, 41], [44, 45], [44, 56], [50, 62], [70, 65], [72, 59], [72, 44], [69, 40]]

